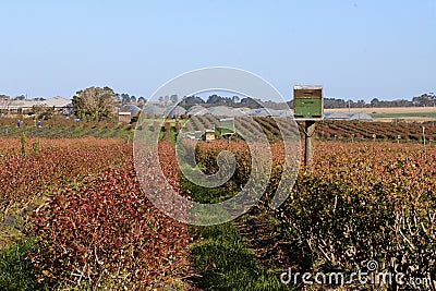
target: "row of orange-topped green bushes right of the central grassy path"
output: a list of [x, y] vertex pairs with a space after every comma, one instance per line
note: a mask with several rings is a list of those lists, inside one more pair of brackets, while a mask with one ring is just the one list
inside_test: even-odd
[[[251, 170], [250, 155], [240, 144], [230, 143], [226, 148], [240, 153], [232, 179], [243, 184]], [[300, 170], [289, 198], [274, 213], [282, 237], [310, 250], [315, 271], [320, 266], [358, 271], [375, 259], [378, 271], [431, 278], [435, 289], [435, 148], [428, 148], [426, 155], [419, 145], [387, 143], [323, 142], [315, 148], [313, 166]], [[272, 151], [274, 157], [282, 157], [282, 148], [272, 147]], [[201, 144], [197, 153], [201, 165], [211, 165], [209, 173], [218, 170], [214, 160], [219, 149]], [[280, 171], [280, 161], [275, 159], [263, 204], [269, 203], [277, 189]]]

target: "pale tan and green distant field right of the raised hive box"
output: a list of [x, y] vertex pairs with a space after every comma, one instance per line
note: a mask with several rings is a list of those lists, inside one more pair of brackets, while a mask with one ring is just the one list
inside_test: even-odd
[[436, 107], [340, 108], [325, 109], [325, 111], [337, 111], [343, 113], [365, 112], [378, 121], [387, 122], [392, 121], [392, 119], [419, 122], [436, 120]]

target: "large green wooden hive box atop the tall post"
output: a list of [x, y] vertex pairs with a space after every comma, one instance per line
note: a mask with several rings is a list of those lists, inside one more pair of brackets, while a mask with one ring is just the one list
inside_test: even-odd
[[293, 108], [296, 120], [322, 120], [324, 118], [323, 86], [295, 85]]

